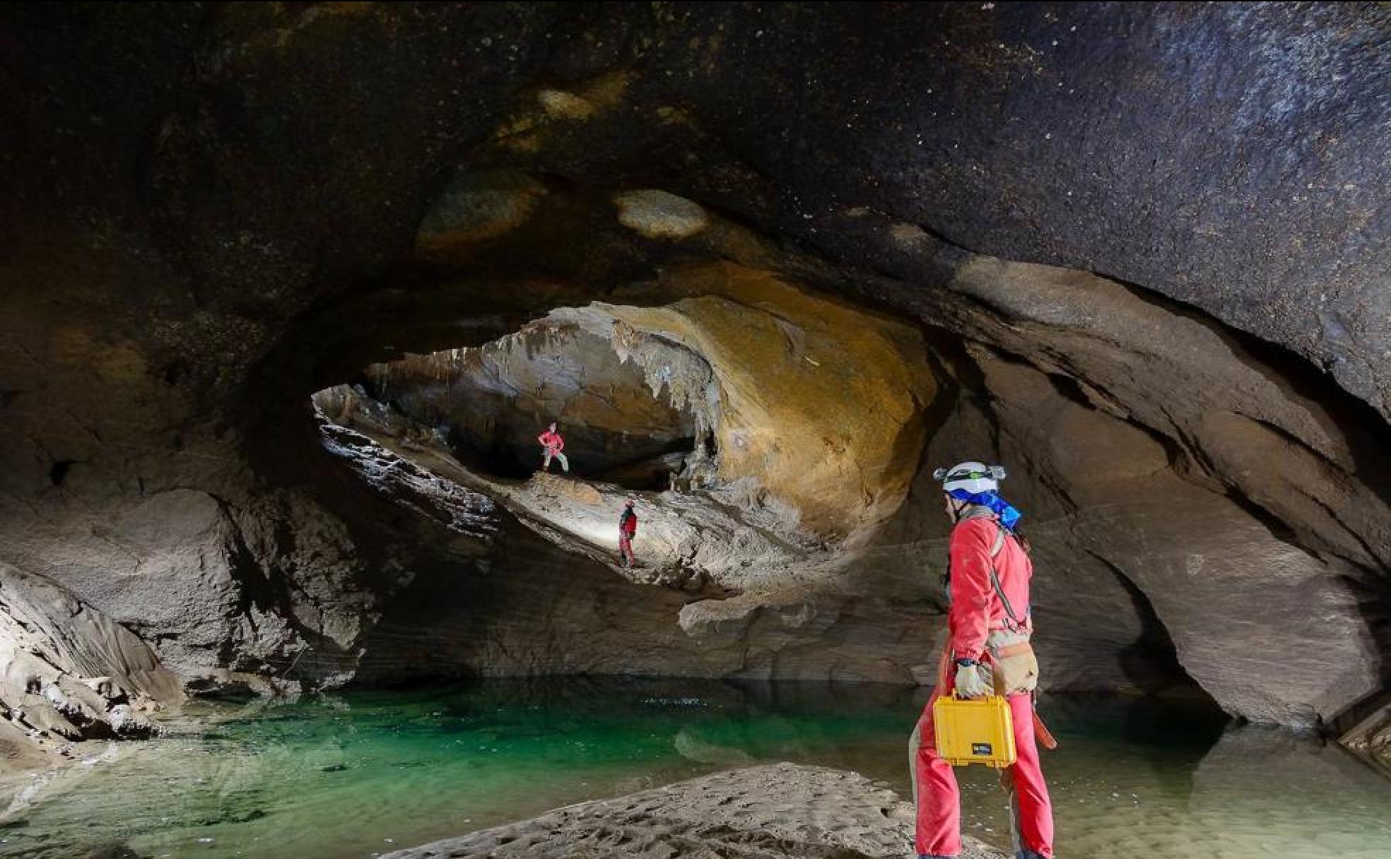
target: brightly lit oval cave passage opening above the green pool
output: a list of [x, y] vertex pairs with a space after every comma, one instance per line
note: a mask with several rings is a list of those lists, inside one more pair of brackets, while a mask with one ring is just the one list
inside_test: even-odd
[[[641, 304], [561, 306], [479, 347], [351, 374], [312, 399], [362, 435], [330, 431], [325, 446], [355, 448], [349, 466], [369, 484], [409, 460], [609, 567], [633, 500], [643, 584], [729, 596], [773, 570], [835, 575], [917, 470], [938, 391], [921, 332], [730, 263], [670, 267], [633, 289]], [[544, 467], [552, 421], [569, 473]]]

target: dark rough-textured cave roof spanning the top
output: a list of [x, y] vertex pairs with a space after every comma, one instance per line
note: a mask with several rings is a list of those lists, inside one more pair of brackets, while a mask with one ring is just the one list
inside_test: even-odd
[[[0, 277], [235, 379], [388, 271], [460, 165], [520, 167], [680, 193], [887, 275], [889, 306], [939, 286], [953, 246], [1104, 274], [1385, 417], [1388, 24], [1376, 4], [7, 6]], [[542, 145], [499, 145], [538, 93]]]

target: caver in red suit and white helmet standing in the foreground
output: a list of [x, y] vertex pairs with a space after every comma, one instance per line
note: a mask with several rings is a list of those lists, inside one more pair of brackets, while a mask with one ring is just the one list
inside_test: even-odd
[[951, 517], [946, 589], [950, 638], [942, 655], [938, 685], [912, 731], [908, 753], [917, 806], [919, 859], [961, 852], [961, 794], [951, 766], [938, 755], [932, 703], [939, 695], [985, 698], [1004, 695], [1014, 723], [1017, 760], [1002, 773], [1010, 795], [1015, 859], [1052, 859], [1053, 805], [1039, 763], [1038, 737], [1052, 737], [1034, 712], [1038, 660], [1029, 645], [1028, 545], [1014, 532], [1020, 512], [999, 495], [1004, 468], [960, 463], [939, 468], [947, 516]]

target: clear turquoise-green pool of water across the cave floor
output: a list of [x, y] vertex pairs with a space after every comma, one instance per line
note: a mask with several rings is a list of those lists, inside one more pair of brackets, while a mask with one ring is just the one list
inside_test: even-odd
[[[0, 784], [0, 855], [367, 858], [776, 760], [908, 795], [921, 706], [892, 687], [638, 680], [207, 705], [166, 739]], [[1391, 780], [1337, 746], [1152, 702], [1054, 696], [1042, 710], [1061, 741], [1045, 767], [1063, 856], [1391, 856]], [[1007, 845], [993, 774], [963, 771], [963, 795], [967, 831]]]

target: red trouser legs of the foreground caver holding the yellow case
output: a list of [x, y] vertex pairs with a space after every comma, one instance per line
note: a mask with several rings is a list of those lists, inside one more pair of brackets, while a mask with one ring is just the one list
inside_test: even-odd
[[[961, 852], [961, 792], [951, 764], [938, 758], [938, 741], [932, 730], [932, 702], [938, 699], [943, 685], [938, 685], [928, 701], [908, 748], [912, 801], [918, 806], [919, 856], [956, 856]], [[950, 692], [947, 688], [946, 694]], [[1010, 794], [1014, 852], [1032, 851], [1052, 859], [1053, 803], [1047, 798], [1039, 749], [1034, 742], [1034, 702], [1028, 695], [1010, 695], [1008, 702], [1018, 760], [1004, 770], [1000, 781]]]

